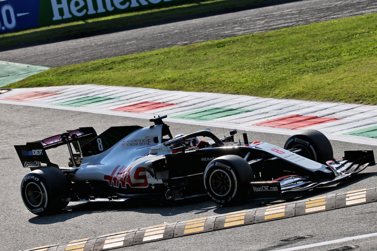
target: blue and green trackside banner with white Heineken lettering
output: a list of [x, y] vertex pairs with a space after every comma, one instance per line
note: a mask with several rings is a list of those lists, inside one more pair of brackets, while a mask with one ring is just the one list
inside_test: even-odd
[[85, 20], [187, 0], [0, 0], [0, 32]]

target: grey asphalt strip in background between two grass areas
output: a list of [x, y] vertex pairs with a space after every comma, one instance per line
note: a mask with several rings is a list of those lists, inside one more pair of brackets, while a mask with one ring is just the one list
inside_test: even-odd
[[57, 67], [376, 11], [375, 0], [272, 2], [272, 5], [256, 5], [245, 10], [202, 14], [69, 40], [3, 48], [0, 60]]

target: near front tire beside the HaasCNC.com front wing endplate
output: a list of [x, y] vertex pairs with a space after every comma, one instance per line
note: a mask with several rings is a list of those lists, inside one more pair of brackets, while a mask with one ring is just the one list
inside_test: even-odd
[[247, 161], [237, 155], [225, 155], [211, 161], [204, 171], [204, 187], [211, 199], [222, 206], [245, 202], [254, 173]]

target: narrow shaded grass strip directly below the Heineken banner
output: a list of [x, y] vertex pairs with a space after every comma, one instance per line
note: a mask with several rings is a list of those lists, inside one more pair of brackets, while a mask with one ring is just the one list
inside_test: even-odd
[[124, 28], [135, 24], [162, 21], [211, 11], [248, 6], [274, 0], [191, 0], [179, 4], [162, 5], [88, 20], [31, 28], [0, 34], [0, 47], [28, 42]]

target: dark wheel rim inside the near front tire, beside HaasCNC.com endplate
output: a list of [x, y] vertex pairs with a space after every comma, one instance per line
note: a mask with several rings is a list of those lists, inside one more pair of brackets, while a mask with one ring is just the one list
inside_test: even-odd
[[226, 196], [232, 188], [230, 176], [221, 169], [213, 171], [209, 177], [209, 181], [211, 191], [220, 197]]

